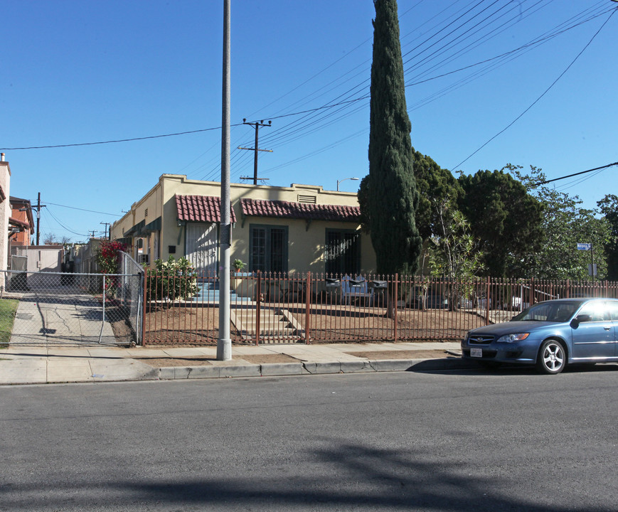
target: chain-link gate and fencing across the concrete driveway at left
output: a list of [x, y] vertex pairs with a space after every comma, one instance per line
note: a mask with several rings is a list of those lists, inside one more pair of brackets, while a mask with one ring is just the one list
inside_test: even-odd
[[143, 275], [143, 271], [107, 275], [0, 272], [0, 325], [4, 331], [0, 342], [28, 346], [139, 344]]

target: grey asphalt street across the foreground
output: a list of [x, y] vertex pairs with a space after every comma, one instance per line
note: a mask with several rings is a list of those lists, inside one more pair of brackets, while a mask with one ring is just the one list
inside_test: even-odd
[[616, 511], [618, 367], [1, 389], [0, 511]]

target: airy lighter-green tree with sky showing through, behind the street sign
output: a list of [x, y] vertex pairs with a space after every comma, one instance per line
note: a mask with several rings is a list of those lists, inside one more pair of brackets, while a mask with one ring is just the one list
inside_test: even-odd
[[592, 242], [597, 264], [597, 276], [606, 273], [603, 246], [607, 240], [607, 223], [597, 218], [595, 210], [581, 208], [578, 196], [569, 196], [555, 188], [538, 185], [545, 174], [534, 166], [530, 174], [523, 174], [521, 166], [509, 164], [507, 169], [543, 205], [543, 238], [540, 247], [528, 251], [518, 262], [519, 273], [541, 279], [590, 279], [590, 251], [577, 250], [578, 242]]

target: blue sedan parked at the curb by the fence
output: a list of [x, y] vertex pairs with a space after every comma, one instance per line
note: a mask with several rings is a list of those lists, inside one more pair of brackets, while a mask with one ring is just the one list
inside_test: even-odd
[[618, 362], [618, 299], [540, 302], [511, 321], [469, 331], [462, 357], [536, 365], [550, 374], [570, 363]]

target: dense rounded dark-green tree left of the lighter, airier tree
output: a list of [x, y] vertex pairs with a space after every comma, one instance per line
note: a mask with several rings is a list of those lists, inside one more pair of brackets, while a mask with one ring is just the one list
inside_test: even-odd
[[509, 262], [521, 262], [524, 255], [540, 248], [543, 205], [504, 170], [462, 174], [458, 181], [463, 190], [459, 209], [484, 253], [486, 274], [505, 277], [509, 270], [509, 277], [526, 277], [512, 274], [523, 270]]

